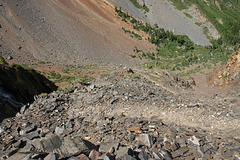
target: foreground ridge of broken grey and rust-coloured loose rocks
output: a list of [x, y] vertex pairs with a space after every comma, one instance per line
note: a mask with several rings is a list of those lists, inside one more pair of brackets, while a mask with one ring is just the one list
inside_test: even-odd
[[[207, 106], [186, 81], [159, 76], [178, 92], [128, 70], [39, 97], [1, 123], [2, 159], [239, 159], [239, 115], [222, 107], [239, 100]], [[237, 134], [218, 134], [216, 121]]]

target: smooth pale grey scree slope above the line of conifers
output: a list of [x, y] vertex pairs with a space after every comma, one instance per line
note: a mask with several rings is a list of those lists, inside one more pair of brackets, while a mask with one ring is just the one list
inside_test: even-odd
[[[187, 35], [198, 45], [210, 45], [211, 43], [203, 34], [203, 29], [196, 25], [197, 19], [188, 18], [183, 12], [177, 10], [168, 0], [145, 0], [149, 12], [136, 8], [129, 0], [109, 0], [114, 5], [134, 17], [144, 20], [152, 25], [158, 24], [165, 30], [173, 31], [174, 34]], [[143, 4], [143, 0], [139, 0]], [[210, 22], [208, 22], [210, 23]]]

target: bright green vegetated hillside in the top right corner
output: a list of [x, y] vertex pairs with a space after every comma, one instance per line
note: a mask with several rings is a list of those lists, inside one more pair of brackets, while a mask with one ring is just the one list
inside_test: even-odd
[[[239, 45], [240, 42], [240, 1], [239, 0], [218, 0], [220, 8], [215, 1], [197, 0], [171, 0], [177, 9], [187, 9], [196, 5], [206, 18], [216, 27], [221, 38], [212, 41], [214, 45]], [[218, 19], [223, 21], [219, 23]]]

